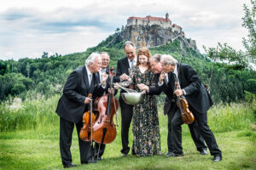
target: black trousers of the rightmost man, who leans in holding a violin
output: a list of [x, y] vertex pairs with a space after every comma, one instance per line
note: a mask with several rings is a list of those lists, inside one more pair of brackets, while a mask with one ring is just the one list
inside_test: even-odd
[[[195, 111], [193, 108], [189, 108], [190, 111], [195, 116], [195, 120], [198, 124], [201, 136], [203, 139], [205, 139], [207, 146], [210, 150], [211, 155], [221, 155], [221, 151], [218, 149], [218, 144], [216, 142], [216, 139], [207, 125], [207, 113], [199, 113]], [[177, 109], [175, 112], [173, 118], [172, 118], [172, 144], [174, 148], [174, 153], [180, 154], [183, 152], [182, 147], [182, 127], [183, 120], [181, 117], [180, 110]], [[195, 126], [195, 123], [193, 122], [191, 126]]]

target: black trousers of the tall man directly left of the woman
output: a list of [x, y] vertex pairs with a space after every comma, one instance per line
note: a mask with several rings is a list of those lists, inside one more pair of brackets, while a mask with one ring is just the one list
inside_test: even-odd
[[132, 108], [131, 106], [121, 108], [121, 116], [122, 116], [122, 127], [121, 127], [121, 138], [122, 138], [122, 150], [123, 154], [128, 154], [130, 151], [129, 147], [129, 128], [132, 119]]

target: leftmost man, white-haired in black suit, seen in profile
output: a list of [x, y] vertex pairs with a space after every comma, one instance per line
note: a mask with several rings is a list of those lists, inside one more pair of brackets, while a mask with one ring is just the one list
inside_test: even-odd
[[[69, 75], [63, 88], [63, 94], [56, 109], [56, 113], [60, 116], [60, 150], [63, 167], [76, 166], [72, 163], [70, 151], [73, 127], [75, 124], [79, 134], [81, 127], [83, 127], [83, 114], [90, 109], [88, 94], [92, 94], [92, 99], [95, 99], [105, 92], [108, 76], [103, 77], [101, 85], [100, 78], [96, 74], [101, 66], [101, 55], [97, 53], [90, 54], [85, 61], [85, 65]], [[90, 142], [79, 139], [79, 151], [82, 164], [96, 162], [90, 160]]]

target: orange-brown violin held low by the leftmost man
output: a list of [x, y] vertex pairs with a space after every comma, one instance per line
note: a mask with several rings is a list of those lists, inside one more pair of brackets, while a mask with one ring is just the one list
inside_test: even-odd
[[[88, 97], [91, 99], [92, 94], [89, 94]], [[83, 127], [80, 130], [79, 138], [81, 140], [90, 141], [92, 144], [92, 139], [94, 135], [93, 124], [95, 122], [95, 114], [92, 112], [92, 99], [90, 100], [90, 111], [87, 111], [83, 115]]]

